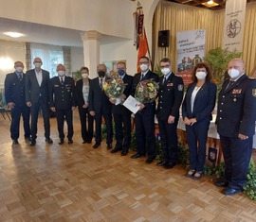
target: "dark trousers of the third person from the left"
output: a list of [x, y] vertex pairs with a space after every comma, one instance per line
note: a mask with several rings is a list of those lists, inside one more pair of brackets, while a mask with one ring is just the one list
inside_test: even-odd
[[64, 140], [64, 120], [67, 125], [67, 139], [72, 140], [74, 129], [73, 129], [73, 111], [68, 110], [56, 110], [56, 118], [58, 124], [59, 138]]

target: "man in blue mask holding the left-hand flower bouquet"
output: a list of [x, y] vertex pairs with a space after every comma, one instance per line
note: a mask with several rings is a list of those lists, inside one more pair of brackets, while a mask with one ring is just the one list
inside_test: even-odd
[[[117, 64], [119, 77], [122, 78], [125, 83], [125, 90], [120, 95], [119, 99], [124, 100], [131, 94], [133, 77], [126, 74], [126, 64], [123, 61], [119, 61]], [[115, 148], [111, 150], [111, 153], [121, 151], [121, 156], [125, 156], [131, 145], [131, 111], [126, 109], [121, 104], [115, 105], [116, 100], [110, 99], [112, 105], [112, 113], [114, 115], [116, 140], [117, 144]]]

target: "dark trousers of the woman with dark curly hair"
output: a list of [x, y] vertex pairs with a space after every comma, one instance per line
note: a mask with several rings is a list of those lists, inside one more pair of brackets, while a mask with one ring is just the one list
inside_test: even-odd
[[210, 122], [196, 122], [186, 125], [187, 141], [190, 149], [190, 168], [197, 172], [204, 170], [206, 162], [206, 145]]

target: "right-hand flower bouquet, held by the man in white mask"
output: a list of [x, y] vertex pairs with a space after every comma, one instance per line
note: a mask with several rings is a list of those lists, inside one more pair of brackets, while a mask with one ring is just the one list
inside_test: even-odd
[[140, 103], [150, 103], [155, 100], [158, 83], [154, 79], [146, 79], [137, 84], [135, 97]]

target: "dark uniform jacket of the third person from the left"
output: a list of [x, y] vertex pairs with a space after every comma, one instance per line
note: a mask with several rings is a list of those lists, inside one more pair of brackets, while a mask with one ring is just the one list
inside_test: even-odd
[[75, 83], [72, 77], [64, 77], [62, 85], [59, 77], [50, 79], [49, 104], [56, 110], [71, 110], [76, 106]]

